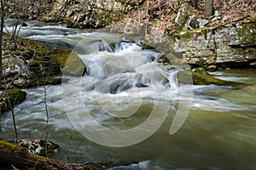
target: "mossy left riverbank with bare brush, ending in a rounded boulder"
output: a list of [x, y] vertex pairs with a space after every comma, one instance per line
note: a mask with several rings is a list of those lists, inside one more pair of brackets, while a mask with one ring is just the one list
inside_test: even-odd
[[26, 93], [20, 89], [61, 84], [63, 80], [56, 76], [62, 74], [74, 77], [84, 74], [84, 63], [67, 48], [45, 48], [42, 42], [7, 34], [3, 34], [2, 43], [4, 48], [3, 80], [0, 83], [1, 111], [9, 111], [26, 99]]

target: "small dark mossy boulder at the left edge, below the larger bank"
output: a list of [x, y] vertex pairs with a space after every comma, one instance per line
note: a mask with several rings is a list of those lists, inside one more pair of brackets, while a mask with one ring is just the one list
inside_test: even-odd
[[20, 104], [26, 99], [26, 92], [19, 88], [13, 88], [0, 92], [1, 111], [9, 111], [14, 105]]

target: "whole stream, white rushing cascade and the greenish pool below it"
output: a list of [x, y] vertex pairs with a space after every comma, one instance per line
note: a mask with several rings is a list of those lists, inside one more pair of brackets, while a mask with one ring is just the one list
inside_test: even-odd
[[[122, 35], [28, 25], [20, 37], [73, 48], [87, 67], [84, 77], [26, 89], [15, 106], [20, 138], [47, 135], [61, 146], [50, 157], [126, 165], [110, 169], [256, 169], [255, 70], [212, 73], [244, 88], [182, 85], [183, 68], [157, 63], [160, 52]], [[170, 134], [174, 122], [182, 126]], [[14, 139], [9, 112], [1, 124], [0, 136]]]

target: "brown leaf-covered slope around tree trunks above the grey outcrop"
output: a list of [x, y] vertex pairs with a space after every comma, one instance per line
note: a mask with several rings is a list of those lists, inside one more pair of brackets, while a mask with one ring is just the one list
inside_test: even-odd
[[[166, 28], [172, 27], [177, 17], [178, 9], [181, 7], [180, 1], [176, 0], [148, 0], [143, 5], [125, 16], [124, 20], [132, 20], [134, 25], [145, 24], [153, 26], [154, 37], [162, 37]], [[204, 18], [205, 0], [198, 0], [198, 7], [193, 8], [191, 15], [194, 14], [198, 19]], [[218, 11], [221, 18], [225, 17], [229, 23], [232, 20], [247, 22], [256, 19], [256, 3], [254, 0], [214, 0], [214, 11]], [[119, 27], [124, 20], [113, 24]], [[237, 22], [237, 21], [236, 21]]]

